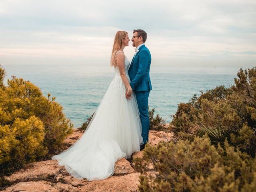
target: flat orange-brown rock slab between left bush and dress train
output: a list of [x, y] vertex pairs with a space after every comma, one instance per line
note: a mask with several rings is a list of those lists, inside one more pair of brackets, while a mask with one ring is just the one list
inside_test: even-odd
[[5, 179], [14, 182], [15, 180], [26, 181], [35, 178], [47, 178], [49, 175], [58, 174], [61, 168], [63, 167], [58, 166], [56, 160], [33, 162], [14, 174], [5, 176]]

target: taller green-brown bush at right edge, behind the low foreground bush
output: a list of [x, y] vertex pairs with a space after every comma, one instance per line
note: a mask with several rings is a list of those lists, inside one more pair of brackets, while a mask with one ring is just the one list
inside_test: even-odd
[[170, 125], [176, 140], [208, 134], [212, 143], [232, 146], [255, 156], [256, 68], [242, 70], [231, 88], [218, 86], [180, 104]]

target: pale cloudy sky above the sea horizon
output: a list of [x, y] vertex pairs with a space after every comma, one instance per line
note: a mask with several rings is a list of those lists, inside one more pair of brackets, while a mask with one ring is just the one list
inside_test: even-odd
[[155, 66], [252, 67], [255, 18], [255, 0], [0, 0], [0, 64], [106, 65], [143, 29]]

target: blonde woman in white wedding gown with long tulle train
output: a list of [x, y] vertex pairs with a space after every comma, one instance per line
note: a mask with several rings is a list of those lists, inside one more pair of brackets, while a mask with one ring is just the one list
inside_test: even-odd
[[[124, 55], [129, 41], [127, 32], [116, 33], [110, 60], [114, 79], [82, 137], [52, 157], [74, 177], [89, 181], [106, 179], [114, 174], [117, 160], [130, 158], [143, 144], [136, 96], [129, 84], [130, 62]], [[126, 98], [125, 93], [130, 97]]]

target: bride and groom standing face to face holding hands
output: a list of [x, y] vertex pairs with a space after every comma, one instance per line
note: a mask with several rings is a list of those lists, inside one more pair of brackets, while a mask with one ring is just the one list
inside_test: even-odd
[[52, 159], [74, 177], [102, 180], [114, 174], [115, 162], [130, 158], [144, 149], [148, 142], [151, 55], [144, 45], [144, 30], [133, 31], [132, 46], [135, 54], [129, 62], [124, 48], [130, 38], [125, 31], [118, 31], [110, 65], [115, 77], [104, 94], [90, 124], [82, 137], [64, 152]]

